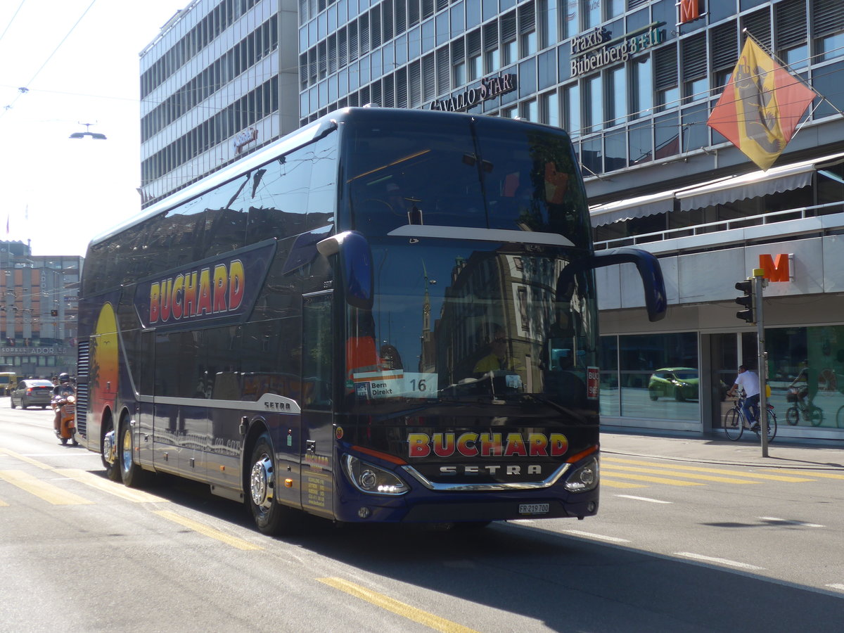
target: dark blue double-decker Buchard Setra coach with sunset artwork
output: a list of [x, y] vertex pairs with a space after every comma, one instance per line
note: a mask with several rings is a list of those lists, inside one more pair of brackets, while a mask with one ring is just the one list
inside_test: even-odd
[[336, 111], [91, 242], [80, 441], [111, 479], [243, 500], [263, 533], [598, 510], [592, 251], [565, 132]]

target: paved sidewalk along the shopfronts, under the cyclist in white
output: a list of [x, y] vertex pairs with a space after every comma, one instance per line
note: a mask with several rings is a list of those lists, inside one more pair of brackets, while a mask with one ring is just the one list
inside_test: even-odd
[[[614, 430], [615, 431], [615, 430]], [[762, 446], [744, 436], [740, 441], [713, 437], [601, 432], [601, 452], [611, 455], [659, 457], [678, 462], [717, 463], [760, 468], [803, 468], [844, 471], [844, 446], [773, 441], [768, 457]]]

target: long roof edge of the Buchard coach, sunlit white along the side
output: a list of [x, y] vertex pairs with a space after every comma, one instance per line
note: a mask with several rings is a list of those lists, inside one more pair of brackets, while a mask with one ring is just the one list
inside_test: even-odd
[[[265, 163], [270, 160], [273, 160], [274, 157], [279, 156], [280, 154], [287, 154], [288, 152], [293, 151], [296, 148], [311, 143], [317, 138], [321, 138], [328, 132], [337, 129], [338, 123], [344, 122], [344, 120], [370, 118], [374, 116], [377, 116], [378, 118], [384, 121], [389, 121], [390, 119], [396, 119], [397, 121], [407, 121], [408, 118], [428, 116], [446, 119], [468, 117], [477, 118], [479, 116], [484, 115], [466, 112], [406, 110], [403, 108], [380, 108], [369, 106], [347, 107], [333, 112], [329, 112], [327, 115], [317, 119], [317, 121], [311, 122], [305, 127], [300, 127], [298, 130], [295, 130], [295, 132], [289, 133], [287, 136], [273, 141], [273, 143], [269, 143], [266, 147], [258, 149], [252, 154], [248, 154], [241, 160], [235, 160], [235, 162], [231, 163], [230, 165], [227, 165], [225, 168], [219, 171], [215, 171], [214, 173], [202, 178], [197, 182], [194, 182], [192, 185], [189, 185], [184, 189], [181, 189], [180, 191], [172, 193], [170, 196], [165, 197], [158, 203], [154, 203], [154, 205], [152, 205], [151, 207], [143, 209], [140, 214], [135, 215], [130, 219], [127, 219], [125, 222], [122, 222], [122, 224], [116, 225], [115, 227], [106, 230], [105, 232], [100, 233], [99, 235], [95, 235], [95, 237], [89, 242], [89, 246], [94, 246], [95, 244], [99, 244], [102, 241], [106, 241], [111, 237], [122, 233], [122, 231], [124, 230], [127, 230], [135, 225], [143, 223], [144, 220], [151, 218], [154, 215], [160, 214], [162, 211], [165, 211], [168, 208], [176, 207], [181, 203], [185, 203], [192, 197], [197, 197], [198, 195], [208, 191], [209, 189], [217, 187], [218, 185], [221, 185], [226, 181], [230, 181], [232, 178], [241, 176], [241, 174], [249, 170], [255, 169], [260, 165], [264, 165]], [[559, 127], [547, 126], [541, 123], [527, 122], [523, 120], [517, 121], [514, 119], [500, 116], [484, 116], [484, 118], [488, 121], [494, 122], [493, 125], [500, 125], [502, 127], [508, 127], [513, 125], [529, 125], [533, 127], [542, 128], [546, 131], [553, 130], [555, 133], [565, 134], [565, 131], [563, 131]]]

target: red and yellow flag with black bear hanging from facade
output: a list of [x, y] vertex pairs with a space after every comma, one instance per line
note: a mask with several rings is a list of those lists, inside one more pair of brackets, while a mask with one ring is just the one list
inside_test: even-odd
[[814, 97], [750, 38], [706, 124], [766, 171], [791, 140]]

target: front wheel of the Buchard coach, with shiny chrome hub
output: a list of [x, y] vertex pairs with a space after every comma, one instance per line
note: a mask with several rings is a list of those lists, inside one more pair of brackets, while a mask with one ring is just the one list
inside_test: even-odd
[[274, 454], [273, 441], [263, 433], [252, 449], [246, 494], [246, 503], [252, 510], [258, 531], [269, 535], [291, 533], [299, 518], [298, 511], [282, 506], [276, 499], [281, 481], [276, 473]]

